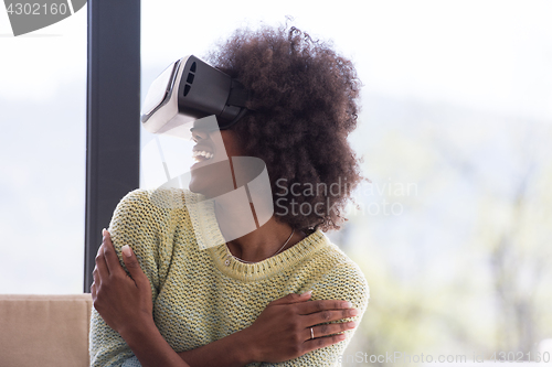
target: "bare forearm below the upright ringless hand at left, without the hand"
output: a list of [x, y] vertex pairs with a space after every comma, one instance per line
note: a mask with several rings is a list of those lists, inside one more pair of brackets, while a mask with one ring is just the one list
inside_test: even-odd
[[190, 367], [167, 343], [153, 321], [120, 335], [142, 367]]

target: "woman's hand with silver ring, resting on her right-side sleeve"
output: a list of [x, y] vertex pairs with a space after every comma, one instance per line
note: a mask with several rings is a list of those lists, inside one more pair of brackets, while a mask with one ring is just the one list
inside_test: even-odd
[[[351, 309], [351, 304], [346, 301], [307, 302], [309, 298], [310, 292], [307, 292], [290, 293], [275, 300], [268, 303], [253, 325], [244, 330], [248, 335], [254, 361], [279, 363], [297, 358], [343, 341], [344, 334], [332, 334], [357, 326], [355, 322], [318, 325], [353, 317], [359, 311]], [[315, 338], [311, 338], [311, 327]]]

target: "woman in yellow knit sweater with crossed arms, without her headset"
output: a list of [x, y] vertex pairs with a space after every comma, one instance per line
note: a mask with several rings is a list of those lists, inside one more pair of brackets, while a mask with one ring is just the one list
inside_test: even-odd
[[[295, 28], [237, 31], [210, 62], [252, 93], [252, 112], [219, 132], [193, 129], [190, 191], [135, 191], [117, 206], [94, 270], [92, 366], [332, 366], [369, 298], [322, 234], [339, 229], [362, 180], [347, 141], [355, 71]], [[243, 215], [220, 199], [220, 170], [205, 162], [240, 156], [266, 164], [274, 215], [229, 237]], [[185, 205], [170, 204], [176, 195]], [[199, 233], [190, 208], [213, 197]]]

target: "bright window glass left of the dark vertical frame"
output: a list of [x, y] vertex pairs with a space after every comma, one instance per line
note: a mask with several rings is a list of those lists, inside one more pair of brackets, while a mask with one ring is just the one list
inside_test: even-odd
[[0, 293], [82, 293], [86, 7], [0, 48]]

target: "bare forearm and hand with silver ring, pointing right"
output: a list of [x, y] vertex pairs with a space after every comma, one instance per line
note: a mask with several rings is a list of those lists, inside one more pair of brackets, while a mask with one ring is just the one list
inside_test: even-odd
[[288, 360], [344, 339], [344, 335], [332, 334], [350, 330], [353, 325], [337, 323], [318, 330], [317, 339], [309, 342], [310, 328], [306, 325], [338, 321], [358, 312], [343, 301], [307, 302], [310, 295], [310, 292], [290, 293], [275, 300], [253, 325], [179, 355], [194, 367], [244, 366], [254, 361]]

